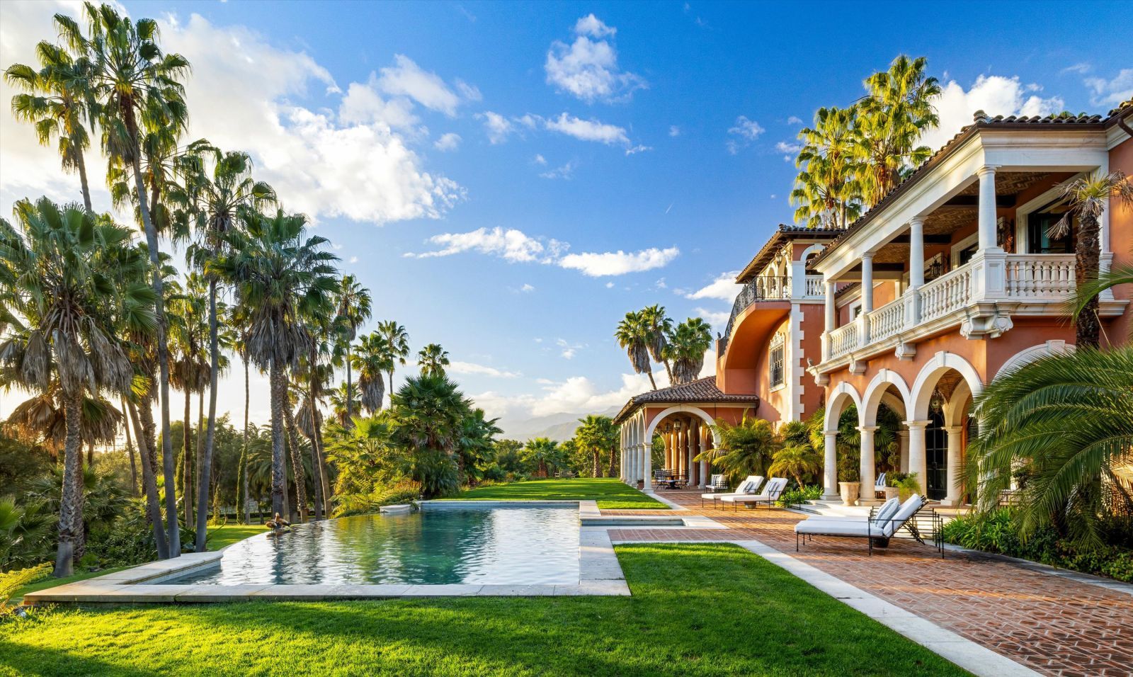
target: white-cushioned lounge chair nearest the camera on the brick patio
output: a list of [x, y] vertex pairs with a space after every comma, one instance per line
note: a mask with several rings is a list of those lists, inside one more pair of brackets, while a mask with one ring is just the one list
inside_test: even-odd
[[799, 550], [799, 537], [802, 537], [803, 542], [807, 537], [815, 535], [863, 538], [868, 540], [869, 554], [872, 556], [875, 546], [878, 548], [888, 546], [889, 539], [901, 529], [908, 531], [917, 542], [927, 545], [921, 535], [921, 526], [927, 522], [932, 546], [940, 551], [940, 557], [944, 557], [944, 520], [936, 511], [927, 507], [927, 498], [914, 494], [904, 503], [891, 498], [880, 507], [870, 509], [868, 517], [826, 515], [808, 517], [794, 525], [794, 549]]

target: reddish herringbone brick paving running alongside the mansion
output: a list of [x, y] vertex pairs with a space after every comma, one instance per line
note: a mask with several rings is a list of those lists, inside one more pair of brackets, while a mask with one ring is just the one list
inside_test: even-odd
[[611, 529], [611, 540], [758, 540], [1045, 675], [1133, 676], [1133, 595], [1010, 562], [956, 552], [942, 559], [904, 539], [872, 557], [861, 539], [815, 538], [795, 552], [793, 528], [803, 515], [701, 508], [699, 494], [662, 495], [729, 530]]

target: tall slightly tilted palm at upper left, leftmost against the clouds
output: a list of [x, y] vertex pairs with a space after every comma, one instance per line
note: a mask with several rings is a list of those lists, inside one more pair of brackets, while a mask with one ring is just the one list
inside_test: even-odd
[[97, 104], [91, 98], [91, 61], [73, 58], [66, 50], [43, 41], [35, 48], [40, 70], [16, 63], [5, 71], [5, 79], [24, 91], [11, 97], [11, 112], [17, 120], [29, 122], [43, 146], [58, 137], [59, 155], [65, 170], [78, 171], [83, 205], [91, 211], [91, 187], [86, 180], [83, 152], [91, 137], [83, 123], [93, 123]]

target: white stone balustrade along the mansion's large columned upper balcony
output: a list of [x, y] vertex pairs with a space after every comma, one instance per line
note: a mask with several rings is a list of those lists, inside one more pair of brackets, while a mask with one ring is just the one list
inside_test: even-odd
[[[1004, 291], [1000, 293], [1013, 301], [1056, 303], [1054, 311], [1063, 312], [1060, 302], [1074, 292], [1073, 255], [1008, 254], [1004, 260]], [[912, 303], [906, 292], [866, 317], [834, 329], [826, 338], [828, 359], [870, 348], [902, 333], [915, 334], [921, 325], [948, 316], [960, 322], [961, 311], [979, 300], [973, 299], [973, 275], [974, 268], [969, 263], [921, 286], [919, 318], [910, 320], [906, 308]]]

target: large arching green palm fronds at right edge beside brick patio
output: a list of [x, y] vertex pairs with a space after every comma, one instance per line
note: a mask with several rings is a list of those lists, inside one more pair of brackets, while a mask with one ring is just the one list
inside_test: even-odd
[[1133, 348], [1080, 348], [997, 376], [976, 399], [980, 431], [964, 475], [978, 505], [994, 508], [1016, 469], [1020, 535], [1053, 526], [1087, 543], [1127, 515], [1133, 497], [1117, 477], [1133, 463]]

